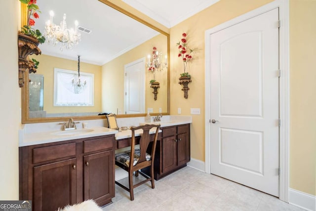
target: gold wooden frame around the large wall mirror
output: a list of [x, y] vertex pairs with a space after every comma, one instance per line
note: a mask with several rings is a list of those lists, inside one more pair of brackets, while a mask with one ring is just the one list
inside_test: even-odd
[[[159, 29], [158, 27], [152, 25], [151, 23], [137, 17], [136, 15], [128, 12], [127, 10], [119, 7], [118, 5], [112, 3], [109, 0], [99, 0], [104, 4], [118, 10], [119, 12], [133, 18], [134, 20], [158, 31], [159, 33], [165, 35], [167, 37], [167, 62], [170, 64], [170, 35], [165, 31]], [[23, 8], [24, 7], [24, 8]], [[25, 4], [21, 3], [21, 23], [26, 23], [27, 13], [25, 11], [26, 6]], [[29, 81], [29, 73], [25, 73], [25, 81]], [[100, 111], [101, 112], [101, 111]], [[169, 115], [170, 114], [170, 65], [167, 68], [167, 112], [161, 113], [162, 115]], [[152, 113], [152, 115], [158, 115], [158, 113]], [[146, 114], [120, 114], [116, 115], [117, 118], [128, 118], [128, 117], [145, 117]], [[71, 116], [71, 117], [47, 117], [47, 118], [30, 118], [29, 113], [29, 84], [26, 83], [22, 87], [22, 124], [28, 123], [46, 123], [46, 122], [64, 122], [68, 121], [69, 118], [73, 118], [75, 121], [79, 120], [99, 120], [99, 119], [106, 119], [105, 115], [95, 115], [95, 116]]]

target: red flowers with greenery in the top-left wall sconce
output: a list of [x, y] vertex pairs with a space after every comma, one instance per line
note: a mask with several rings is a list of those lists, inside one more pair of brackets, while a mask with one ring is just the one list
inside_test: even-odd
[[[35, 25], [35, 19], [39, 18], [40, 15], [38, 12], [40, 12], [40, 8], [38, 5], [36, 5], [37, 0], [20, 0], [21, 3], [27, 4], [28, 8], [28, 17], [27, 17], [27, 25], [23, 26], [21, 29], [21, 32], [25, 35], [29, 35], [32, 37], [35, 37], [39, 40], [40, 43], [45, 42], [45, 38], [41, 36], [40, 30], [35, 30], [31, 26]], [[38, 12], [37, 12], [38, 11]]]

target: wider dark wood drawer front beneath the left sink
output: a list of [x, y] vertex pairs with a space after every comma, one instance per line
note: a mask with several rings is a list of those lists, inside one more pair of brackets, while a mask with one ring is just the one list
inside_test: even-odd
[[59, 144], [33, 149], [34, 164], [70, 156], [76, 156], [76, 143]]

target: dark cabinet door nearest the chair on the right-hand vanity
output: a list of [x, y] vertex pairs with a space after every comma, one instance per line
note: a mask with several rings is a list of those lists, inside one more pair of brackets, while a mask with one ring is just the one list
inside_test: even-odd
[[168, 172], [177, 167], [176, 136], [162, 138], [162, 172]]

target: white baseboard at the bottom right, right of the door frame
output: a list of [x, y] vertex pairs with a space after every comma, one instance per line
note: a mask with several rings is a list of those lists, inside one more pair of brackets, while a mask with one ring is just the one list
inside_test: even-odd
[[289, 188], [289, 204], [308, 211], [316, 211], [316, 196]]

